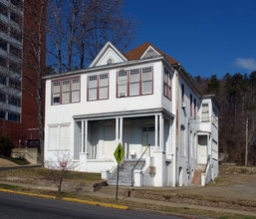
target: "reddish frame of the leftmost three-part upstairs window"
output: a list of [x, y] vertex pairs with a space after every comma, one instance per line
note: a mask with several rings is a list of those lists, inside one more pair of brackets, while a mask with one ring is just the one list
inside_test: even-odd
[[[73, 100], [72, 100], [72, 82], [74, 79], [80, 80], [79, 101], [78, 102], [73, 102]], [[63, 103], [63, 100], [62, 100], [62, 96], [63, 96], [62, 84], [64, 81], [70, 81], [69, 102], [67, 102], [67, 103]], [[54, 96], [54, 83], [58, 83], [58, 82], [60, 83], [60, 103], [54, 104], [54, 97], [53, 97]], [[58, 93], [56, 93], [56, 94], [58, 94]], [[76, 103], [80, 103], [80, 101], [81, 101], [81, 77], [80, 76], [64, 78], [64, 79], [57, 79], [57, 80], [51, 81], [51, 105], [52, 106], [76, 104]]]

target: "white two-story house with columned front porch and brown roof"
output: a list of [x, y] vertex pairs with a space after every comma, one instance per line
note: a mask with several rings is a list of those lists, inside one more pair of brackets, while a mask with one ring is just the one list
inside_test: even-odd
[[203, 183], [218, 175], [214, 96], [202, 97], [151, 44], [122, 54], [108, 42], [88, 69], [44, 79], [45, 160], [69, 151], [77, 170], [102, 172], [111, 184], [121, 143], [124, 168], [140, 159], [124, 184], [190, 185], [198, 167]]

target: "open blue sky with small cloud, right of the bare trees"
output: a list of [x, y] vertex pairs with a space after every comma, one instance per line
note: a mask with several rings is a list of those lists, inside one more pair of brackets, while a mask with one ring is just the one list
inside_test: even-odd
[[125, 0], [138, 20], [130, 49], [148, 41], [192, 76], [256, 71], [256, 0]]

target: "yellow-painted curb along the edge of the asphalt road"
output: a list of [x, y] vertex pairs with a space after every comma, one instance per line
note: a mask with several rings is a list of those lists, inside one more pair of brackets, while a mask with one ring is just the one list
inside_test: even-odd
[[[14, 194], [34, 196], [34, 197], [40, 197], [40, 198], [57, 199], [56, 196], [53, 196], [53, 195], [40, 195], [40, 194], [27, 193], [27, 192], [19, 192], [19, 191], [3, 189], [3, 188], [0, 188], [0, 191], [14, 193]], [[108, 203], [103, 203], [103, 202], [87, 201], [87, 200], [81, 200], [81, 199], [76, 199], [76, 198], [66, 198], [66, 197], [61, 198], [60, 200], [62, 200], [62, 201], [70, 201], [70, 202], [77, 202], [77, 203], [83, 203], [83, 204], [90, 204], [90, 205], [96, 205], [96, 206], [102, 206], [102, 207], [118, 208], [118, 209], [128, 210], [128, 206], [125, 206], [125, 205], [108, 204]]]

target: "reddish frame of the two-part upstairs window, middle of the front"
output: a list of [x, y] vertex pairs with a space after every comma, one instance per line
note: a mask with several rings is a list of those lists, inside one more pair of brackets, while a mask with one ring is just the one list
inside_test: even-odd
[[[101, 76], [108, 76], [108, 86], [100, 86], [100, 78]], [[92, 99], [90, 100], [89, 96], [90, 96], [90, 78], [91, 77], [96, 77], [96, 99]], [[108, 92], [107, 92], [107, 98], [100, 98], [100, 89], [101, 88], [108, 88]], [[87, 77], [87, 101], [88, 102], [95, 102], [95, 101], [105, 101], [105, 100], [109, 100], [110, 98], [110, 74], [109, 73], [101, 73], [101, 74], [97, 74], [97, 75], [91, 75]]]

